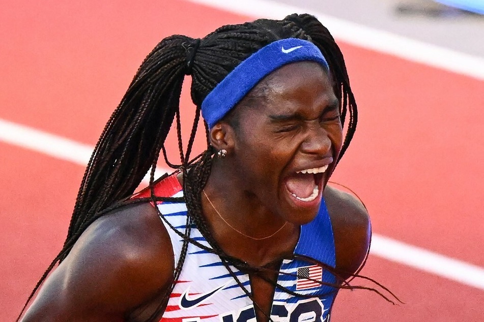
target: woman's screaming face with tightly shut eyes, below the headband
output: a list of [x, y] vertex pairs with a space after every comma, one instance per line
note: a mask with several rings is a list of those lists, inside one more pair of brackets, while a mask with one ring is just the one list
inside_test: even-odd
[[307, 223], [343, 142], [331, 80], [318, 63], [303, 61], [281, 67], [252, 91], [258, 98], [236, 107], [234, 172], [244, 191], [272, 212]]

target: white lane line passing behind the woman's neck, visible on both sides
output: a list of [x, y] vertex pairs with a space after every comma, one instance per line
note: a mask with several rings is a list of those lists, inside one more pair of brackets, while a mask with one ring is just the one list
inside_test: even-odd
[[[0, 119], [0, 141], [47, 154], [83, 167], [89, 162], [93, 150], [93, 147], [89, 145], [2, 119]], [[156, 177], [165, 172], [167, 172], [166, 169], [160, 169]], [[484, 289], [484, 268], [423, 248], [374, 234], [371, 253], [389, 261]]]

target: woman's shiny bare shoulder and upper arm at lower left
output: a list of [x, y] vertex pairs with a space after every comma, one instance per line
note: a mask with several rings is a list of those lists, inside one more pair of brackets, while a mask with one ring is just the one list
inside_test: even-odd
[[138, 205], [95, 221], [44, 282], [24, 320], [123, 320], [169, 286], [173, 250], [155, 215], [151, 205]]

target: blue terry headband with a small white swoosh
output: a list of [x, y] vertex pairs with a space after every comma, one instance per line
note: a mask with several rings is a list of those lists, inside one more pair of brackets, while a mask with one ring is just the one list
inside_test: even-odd
[[229, 113], [264, 77], [279, 67], [301, 60], [319, 62], [325, 70], [329, 70], [319, 48], [302, 39], [278, 40], [250, 55], [215, 86], [202, 102], [202, 115], [209, 128]]

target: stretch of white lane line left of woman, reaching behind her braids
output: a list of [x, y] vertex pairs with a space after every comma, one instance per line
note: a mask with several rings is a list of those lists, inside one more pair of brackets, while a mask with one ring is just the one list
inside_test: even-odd
[[[47, 154], [82, 167], [87, 166], [94, 150], [93, 146], [3, 119], [0, 119], [0, 141]], [[172, 171], [157, 168], [155, 179], [165, 172]], [[145, 184], [150, 182], [149, 173], [145, 176], [143, 182]]]

